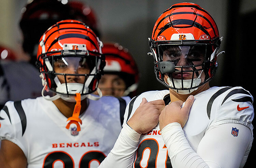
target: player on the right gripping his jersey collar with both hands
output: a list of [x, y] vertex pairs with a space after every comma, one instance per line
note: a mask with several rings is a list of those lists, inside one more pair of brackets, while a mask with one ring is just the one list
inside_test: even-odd
[[131, 100], [127, 123], [100, 167], [244, 166], [253, 141], [253, 97], [241, 87], [210, 88], [221, 40], [197, 4], [177, 3], [161, 14], [150, 55], [157, 80], [169, 90]]

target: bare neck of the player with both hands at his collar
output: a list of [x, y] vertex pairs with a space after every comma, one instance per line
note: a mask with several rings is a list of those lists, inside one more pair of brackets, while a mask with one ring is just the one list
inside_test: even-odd
[[198, 87], [197, 90], [191, 92], [190, 94], [179, 94], [179, 93], [175, 92], [174, 90], [169, 89], [171, 102], [175, 102], [178, 100], [182, 100], [183, 102], [185, 102], [189, 95], [196, 95], [196, 94], [201, 93], [202, 91], [205, 91], [209, 88], [210, 88], [209, 83], [205, 83], [204, 85]]

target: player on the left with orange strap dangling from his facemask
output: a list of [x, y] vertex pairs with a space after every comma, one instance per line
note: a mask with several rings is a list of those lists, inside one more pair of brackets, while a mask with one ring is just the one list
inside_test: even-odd
[[[99, 166], [130, 101], [100, 98], [101, 48], [96, 34], [77, 20], [59, 21], [42, 35], [37, 54], [42, 96], [9, 101], [0, 111], [1, 168]], [[99, 96], [91, 94], [96, 90]]]

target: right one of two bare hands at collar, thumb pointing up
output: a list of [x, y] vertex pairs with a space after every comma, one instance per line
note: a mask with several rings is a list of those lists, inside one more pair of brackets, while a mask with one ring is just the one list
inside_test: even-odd
[[184, 125], [187, 122], [189, 110], [194, 102], [194, 96], [190, 95], [183, 108], [181, 108], [181, 105], [183, 102], [181, 100], [172, 102], [169, 105], [167, 105], [161, 112], [159, 116], [159, 127], [160, 130], [162, 130], [163, 127], [166, 125], [177, 122], [181, 124], [181, 127], [183, 128]]

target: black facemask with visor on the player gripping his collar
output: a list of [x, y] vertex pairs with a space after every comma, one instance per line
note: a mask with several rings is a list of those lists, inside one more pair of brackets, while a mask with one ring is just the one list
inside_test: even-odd
[[[216, 72], [220, 40], [149, 39], [157, 80], [179, 94], [189, 94], [210, 81]], [[193, 79], [193, 80], [192, 80]]]

